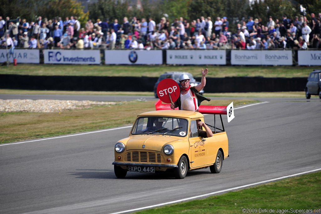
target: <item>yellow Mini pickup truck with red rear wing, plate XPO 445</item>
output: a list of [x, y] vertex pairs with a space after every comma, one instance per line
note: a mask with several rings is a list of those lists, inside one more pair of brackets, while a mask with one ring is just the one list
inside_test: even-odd
[[[220, 117], [227, 114], [227, 107], [208, 110], [209, 107], [206, 106], [206, 113], [220, 114]], [[138, 115], [129, 136], [117, 141], [112, 164], [118, 178], [124, 178], [127, 172], [167, 171], [175, 178], [183, 179], [191, 170], [210, 167], [212, 173], [221, 171], [223, 160], [229, 156], [222, 117], [221, 129], [215, 124], [208, 125], [214, 128], [213, 136], [203, 138], [199, 136], [203, 127], [198, 125], [198, 121], [204, 122], [201, 113], [166, 110], [168, 106], [164, 107], [164, 104], [156, 109], [164, 110]], [[199, 110], [202, 111], [202, 106]]]

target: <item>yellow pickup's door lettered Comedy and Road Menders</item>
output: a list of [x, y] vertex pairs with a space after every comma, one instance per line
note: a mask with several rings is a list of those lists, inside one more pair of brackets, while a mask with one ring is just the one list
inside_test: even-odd
[[198, 136], [197, 129], [201, 128], [197, 125], [200, 120], [191, 120], [189, 132], [190, 145], [190, 161], [192, 167], [198, 167], [207, 164], [207, 144], [206, 140]]

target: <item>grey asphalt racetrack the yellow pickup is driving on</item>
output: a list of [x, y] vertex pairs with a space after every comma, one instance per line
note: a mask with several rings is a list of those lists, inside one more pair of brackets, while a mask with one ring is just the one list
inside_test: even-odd
[[[134, 172], [117, 179], [114, 145], [130, 126], [0, 144], [0, 213], [127, 213], [321, 170], [321, 99], [254, 99], [264, 103], [235, 107], [230, 123], [223, 116], [230, 157], [219, 174], [207, 168], [182, 180]], [[213, 115], [205, 122], [213, 124]]]

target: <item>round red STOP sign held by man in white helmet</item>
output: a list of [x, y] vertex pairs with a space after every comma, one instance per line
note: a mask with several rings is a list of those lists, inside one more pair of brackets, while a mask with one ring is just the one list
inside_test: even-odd
[[173, 79], [163, 79], [157, 85], [157, 96], [164, 103], [175, 102], [179, 95], [180, 89], [177, 82]]

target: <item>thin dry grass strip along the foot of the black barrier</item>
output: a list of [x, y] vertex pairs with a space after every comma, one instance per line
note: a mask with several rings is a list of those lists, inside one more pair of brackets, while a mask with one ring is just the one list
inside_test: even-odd
[[[136, 95], [154, 96], [148, 91], [55, 91], [0, 89], [0, 94], [63, 94], [63, 95]], [[305, 98], [304, 91], [247, 92], [247, 93], [204, 93], [205, 97], [297, 97]]]

